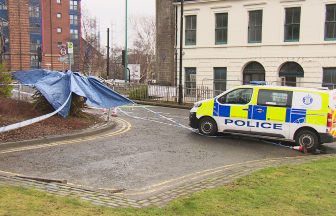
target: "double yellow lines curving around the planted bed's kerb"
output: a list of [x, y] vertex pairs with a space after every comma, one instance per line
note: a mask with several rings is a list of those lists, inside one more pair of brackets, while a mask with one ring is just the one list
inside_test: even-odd
[[96, 140], [96, 139], [99, 139], [99, 138], [107, 138], [107, 137], [117, 136], [117, 135], [124, 134], [124, 133], [128, 132], [129, 130], [131, 130], [132, 125], [129, 122], [127, 122], [126, 120], [117, 118], [117, 121], [122, 123], [122, 127], [119, 130], [108, 133], [108, 134], [103, 134], [103, 135], [98, 135], [98, 136], [89, 136], [89, 137], [86, 137], [86, 138], [78, 138], [78, 139], [67, 140], [67, 141], [52, 142], [52, 143], [47, 143], [47, 144], [35, 145], [35, 146], [14, 148], [14, 149], [0, 151], [0, 155], [1, 154], [14, 153], [14, 152], [29, 151], [29, 150], [34, 150], [34, 149], [41, 149], [41, 148], [50, 148], [50, 147], [56, 147], [56, 146], [61, 146], [61, 145], [78, 144], [78, 143], [81, 143], [81, 142], [92, 141], [92, 140]]

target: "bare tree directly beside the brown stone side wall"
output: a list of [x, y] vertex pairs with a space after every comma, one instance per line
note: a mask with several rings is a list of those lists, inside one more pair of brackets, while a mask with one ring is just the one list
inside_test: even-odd
[[142, 16], [131, 19], [134, 31], [130, 63], [141, 65], [141, 81], [153, 79], [155, 65], [156, 26], [155, 17]]

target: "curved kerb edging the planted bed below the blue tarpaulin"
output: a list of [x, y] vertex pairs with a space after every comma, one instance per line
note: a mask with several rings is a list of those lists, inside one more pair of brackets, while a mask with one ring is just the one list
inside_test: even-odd
[[77, 138], [90, 137], [93, 135], [102, 134], [107, 131], [113, 130], [114, 128], [116, 128], [116, 126], [117, 126], [117, 122], [110, 121], [110, 122], [106, 122], [101, 125], [98, 125], [98, 127], [96, 128], [91, 127], [91, 128], [79, 131], [79, 132], [71, 133], [71, 134], [51, 136], [51, 137], [18, 141], [18, 142], [0, 143], [0, 149], [6, 150], [10, 148], [18, 148], [18, 147], [25, 147], [25, 146], [39, 145], [39, 144], [48, 144], [52, 142], [67, 141], [67, 140], [72, 140], [72, 139], [77, 139]]

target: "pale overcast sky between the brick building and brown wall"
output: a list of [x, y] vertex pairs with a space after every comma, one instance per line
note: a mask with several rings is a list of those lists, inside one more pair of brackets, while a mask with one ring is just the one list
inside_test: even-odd
[[[113, 33], [113, 44], [124, 44], [125, 0], [82, 0], [82, 5], [100, 22], [103, 45], [106, 45], [107, 28], [110, 28]], [[128, 0], [128, 11], [131, 17], [155, 16], [155, 0]], [[129, 28], [131, 28], [130, 24]]]

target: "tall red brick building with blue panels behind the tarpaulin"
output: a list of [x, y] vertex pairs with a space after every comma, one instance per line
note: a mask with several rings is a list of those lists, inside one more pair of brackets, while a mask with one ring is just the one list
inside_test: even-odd
[[67, 42], [75, 47], [72, 70], [79, 70], [81, 0], [0, 0], [0, 27], [2, 58], [9, 70], [69, 69], [59, 54]]

